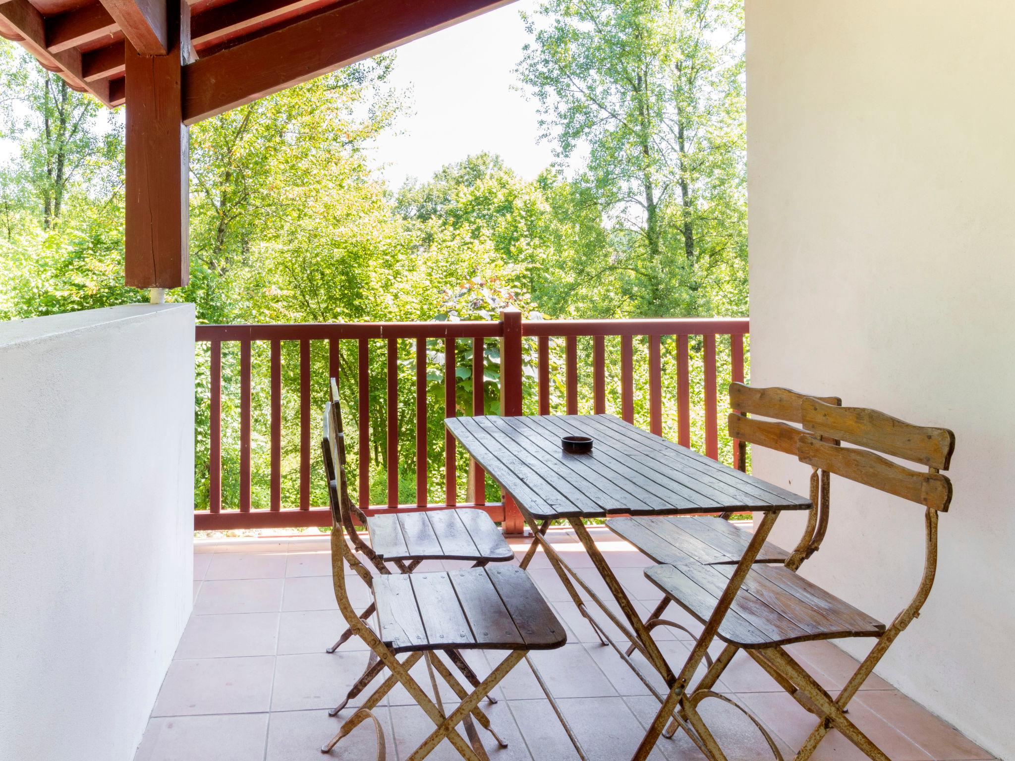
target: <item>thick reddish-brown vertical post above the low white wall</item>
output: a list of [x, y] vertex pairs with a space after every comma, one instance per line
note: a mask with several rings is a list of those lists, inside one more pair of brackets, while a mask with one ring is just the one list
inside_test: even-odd
[[167, 0], [164, 8], [166, 55], [139, 53], [129, 39], [124, 46], [124, 274], [137, 288], [177, 288], [190, 280], [190, 140], [181, 91], [190, 24], [181, 23], [180, 0]]

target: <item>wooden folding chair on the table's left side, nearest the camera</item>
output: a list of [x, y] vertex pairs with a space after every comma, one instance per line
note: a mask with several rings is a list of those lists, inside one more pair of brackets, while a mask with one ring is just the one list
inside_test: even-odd
[[[515, 666], [528, 658], [530, 650], [563, 646], [566, 641], [564, 627], [532, 579], [516, 565], [498, 564], [412, 574], [370, 573], [360, 562], [354, 547], [346, 541], [349, 517], [343, 515], [342, 504], [348, 504], [348, 495], [339, 492], [343, 482], [336, 470], [336, 465], [344, 461], [342, 437], [341, 434], [329, 435], [330, 429], [337, 430], [339, 426], [338, 407], [328, 404], [321, 448], [332, 509], [331, 557], [335, 600], [352, 633], [366, 643], [378, 660], [379, 666], [369, 674], [366, 683], [385, 668], [391, 674], [321, 750], [330, 752], [358, 724], [371, 719], [378, 731], [378, 758], [384, 758], [384, 733], [373, 709], [399, 683], [434, 723], [433, 732], [413, 751], [408, 761], [425, 758], [445, 738], [468, 761], [486, 761], [486, 753], [475, 733], [469, 733], [470, 745], [459, 734], [458, 724], [470, 716], [474, 717], [501, 747], [506, 747], [506, 743], [491, 728], [489, 718], [478, 707], [479, 703]], [[349, 602], [345, 586], [346, 564], [373, 592], [380, 634], [353, 610]], [[475, 685], [472, 692], [462, 686], [437, 654], [444, 651], [454, 659], [452, 653], [468, 648], [509, 650], [507, 656]], [[399, 661], [400, 653], [408, 653], [408, 656]], [[425, 659], [436, 703], [409, 674], [421, 658]], [[434, 672], [461, 699], [451, 713], [444, 710]], [[538, 675], [537, 679], [542, 686]], [[548, 692], [546, 694], [554, 710], [558, 711], [555, 701]]]

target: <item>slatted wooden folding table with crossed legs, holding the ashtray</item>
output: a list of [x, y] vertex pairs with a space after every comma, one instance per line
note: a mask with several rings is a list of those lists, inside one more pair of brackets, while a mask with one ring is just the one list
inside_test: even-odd
[[[614, 415], [532, 415], [524, 417], [455, 417], [448, 430], [514, 498], [533, 532], [533, 543], [522, 560], [525, 567], [542, 546], [574, 605], [604, 643], [652, 690], [665, 698], [597, 623], [574, 584], [586, 594], [646, 656], [667, 686], [686, 687], [716, 630], [729, 610], [754, 562], [775, 517], [782, 510], [811, 508], [809, 499], [729, 468], [685, 446], [626, 423]], [[565, 435], [587, 435], [594, 441], [589, 454], [569, 454], [560, 447]], [[729, 583], [719, 596], [715, 612], [679, 674], [674, 674], [646, 628], [627, 594], [596, 547], [584, 518], [608, 515], [681, 515], [726, 512], [763, 513], [743, 555], [727, 566]], [[550, 522], [566, 520], [617, 602], [621, 620], [561, 558], [544, 538]], [[681, 719], [677, 719], [683, 723]], [[688, 735], [696, 740], [693, 732]]]

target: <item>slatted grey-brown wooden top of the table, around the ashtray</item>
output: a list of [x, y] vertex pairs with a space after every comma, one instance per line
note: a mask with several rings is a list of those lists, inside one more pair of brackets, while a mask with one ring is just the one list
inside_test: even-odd
[[[445, 421], [528, 516], [678, 515], [727, 510], [807, 509], [810, 500], [635, 428], [613, 415], [455, 417]], [[593, 451], [560, 448], [590, 435]], [[707, 544], [722, 553], [729, 538]]]

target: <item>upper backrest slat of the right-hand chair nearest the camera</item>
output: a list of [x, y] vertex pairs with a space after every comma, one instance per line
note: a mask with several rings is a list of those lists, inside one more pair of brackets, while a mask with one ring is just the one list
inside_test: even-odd
[[912, 425], [862, 407], [834, 407], [817, 400], [802, 405], [804, 428], [928, 468], [948, 470], [955, 434], [947, 428]]

